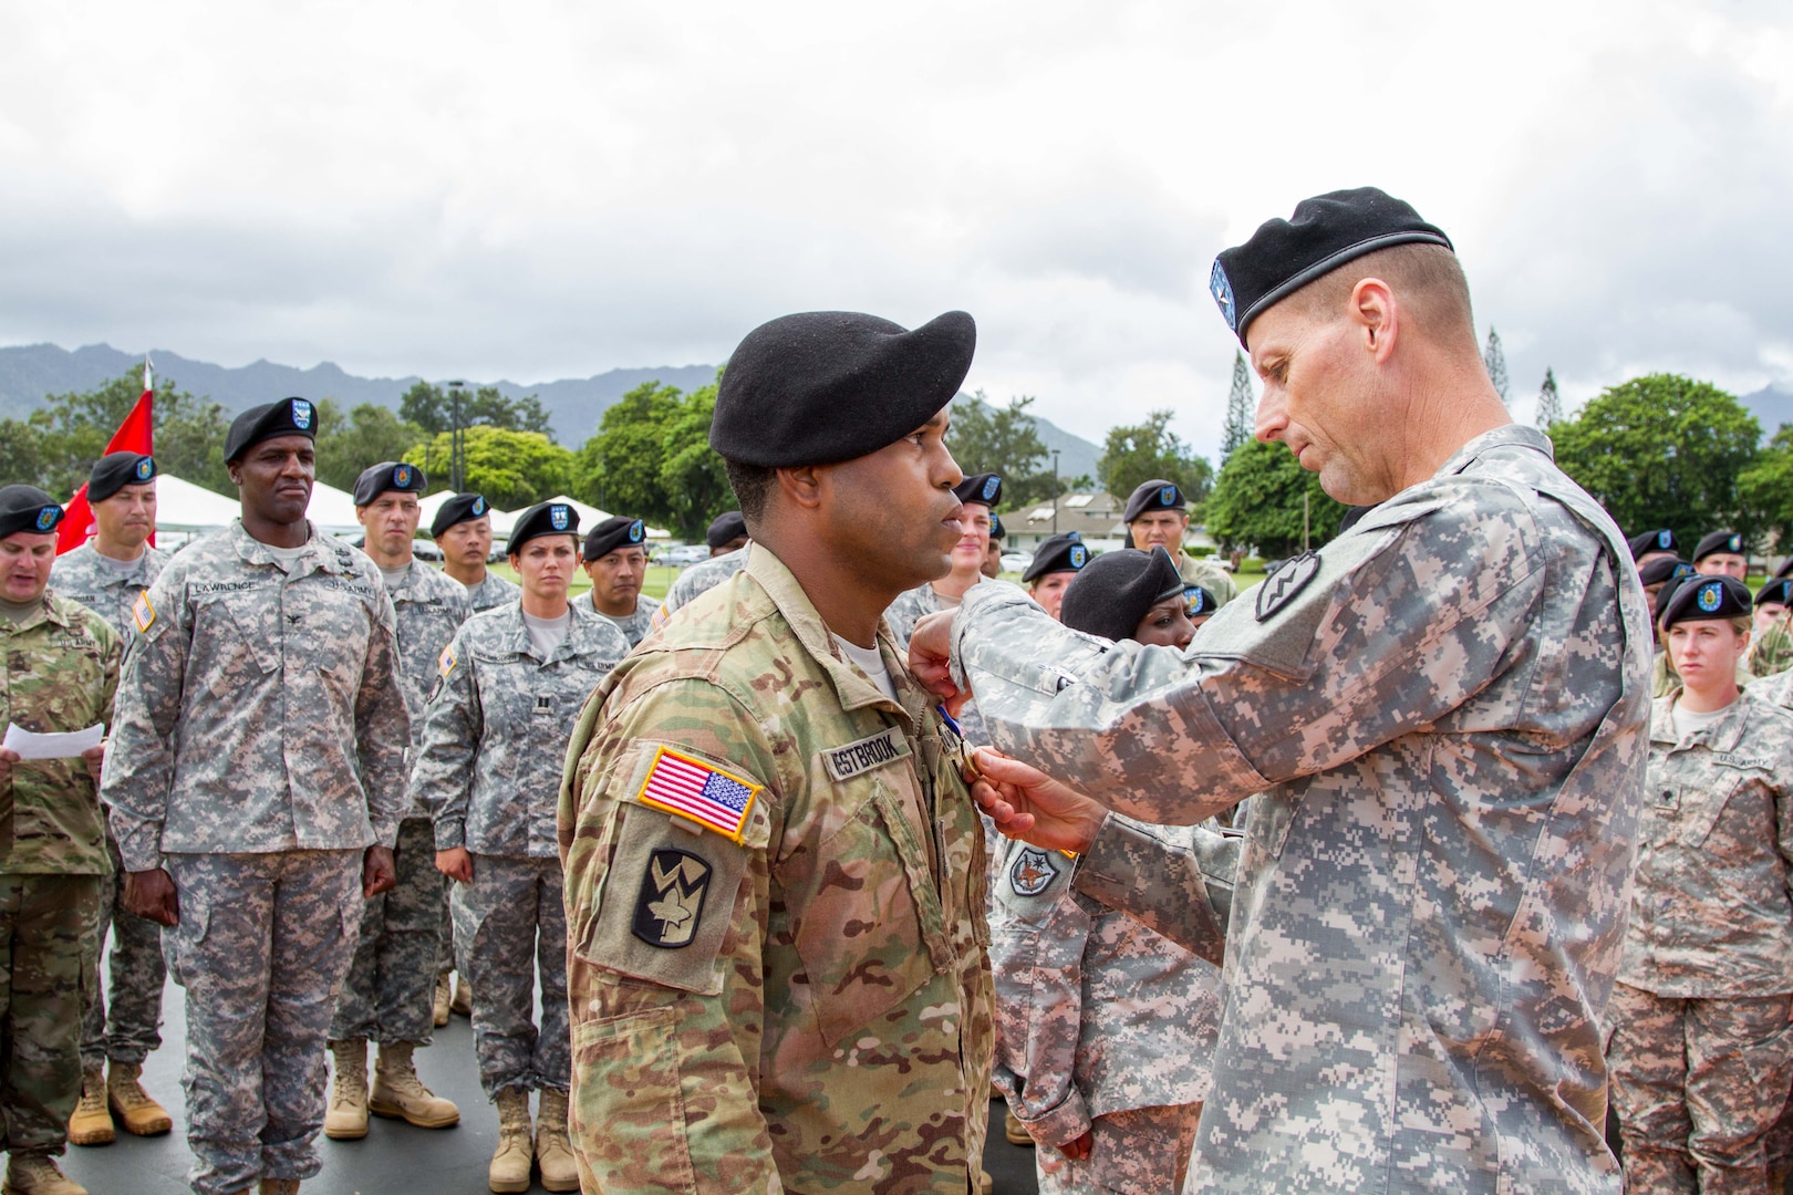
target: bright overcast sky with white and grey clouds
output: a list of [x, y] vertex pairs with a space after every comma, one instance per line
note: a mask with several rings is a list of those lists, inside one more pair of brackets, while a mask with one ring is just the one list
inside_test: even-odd
[[1214, 253], [1377, 185], [1529, 416], [1793, 382], [1786, 4], [9, 5], [0, 342], [541, 382], [977, 317], [968, 387], [1219, 441]]

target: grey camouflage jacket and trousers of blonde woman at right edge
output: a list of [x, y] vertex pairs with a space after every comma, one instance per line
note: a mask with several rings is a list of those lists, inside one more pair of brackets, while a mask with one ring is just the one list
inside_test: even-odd
[[[1655, 702], [1607, 1061], [1633, 1191], [1764, 1191], [1793, 1082], [1793, 715]], [[1698, 1177], [1696, 1177], [1698, 1175]]]

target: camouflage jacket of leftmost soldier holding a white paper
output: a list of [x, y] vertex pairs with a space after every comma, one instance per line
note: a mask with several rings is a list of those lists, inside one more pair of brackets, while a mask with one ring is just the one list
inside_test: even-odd
[[[0, 727], [38, 735], [111, 722], [118, 632], [56, 591], [22, 623], [0, 618]], [[0, 874], [104, 876], [106, 826], [86, 763], [20, 760], [0, 783]]]

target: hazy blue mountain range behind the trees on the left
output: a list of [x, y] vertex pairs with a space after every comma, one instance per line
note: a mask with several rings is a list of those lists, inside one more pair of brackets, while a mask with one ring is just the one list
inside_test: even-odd
[[[176, 389], [210, 398], [226, 410], [237, 412], [287, 394], [301, 398], [333, 398], [344, 407], [378, 403], [398, 410], [398, 400], [421, 382], [405, 378], [359, 378], [332, 362], [298, 369], [258, 360], [249, 365], [213, 365], [176, 353], [152, 349], [151, 364], [158, 378]], [[65, 349], [56, 344], [22, 344], [0, 348], [0, 417], [14, 419], [36, 410], [45, 396], [70, 391], [91, 391], [113, 378], [140, 369], [143, 357], [122, 353], [109, 344], [88, 344]], [[534, 394], [549, 410], [554, 437], [561, 444], [577, 446], [597, 430], [604, 410], [642, 382], [662, 382], [681, 391], [696, 391], [715, 380], [715, 365], [662, 365], [647, 369], [610, 369], [590, 378], [559, 378], [556, 382], [481, 382], [468, 378], [470, 387], [495, 385], [506, 398]], [[970, 401], [961, 394], [959, 401]], [[1035, 428], [1047, 451], [1058, 450], [1061, 477], [1096, 477], [1101, 448], [1072, 435], [1047, 419], [1035, 417]]]

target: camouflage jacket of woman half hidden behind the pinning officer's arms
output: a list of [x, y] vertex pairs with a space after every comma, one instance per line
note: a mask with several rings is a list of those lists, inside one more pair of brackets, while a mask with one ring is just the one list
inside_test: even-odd
[[1221, 1021], [1219, 967], [1076, 892], [1072, 873], [1009, 840], [990, 919], [995, 1084], [1045, 1145], [1110, 1113], [1205, 1100]]

